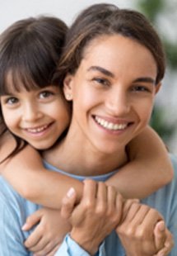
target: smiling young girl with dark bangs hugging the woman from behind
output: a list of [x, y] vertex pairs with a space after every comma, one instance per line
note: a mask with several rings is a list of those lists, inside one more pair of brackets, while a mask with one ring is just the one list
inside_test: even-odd
[[[58, 87], [50, 85], [50, 78], [52, 77], [52, 73], [54, 73], [55, 65], [61, 52], [66, 26], [64, 26], [63, 31], [61, 31], [61, 27], [58, 31], [57, 27], [54, 26], [61, 26], [61, 24], [55, 23], [53, 18], [51, 18], [50, 21], [52, 21], [51, 24], [47, 18], [42, 18], [39, 21], [35, 19], [26, 20], [25, 22], [20, 21], [2, 35], [0, 45], [1, 127], [3, 138], [1, 147], [2, 160], [8, 157], [9, 152], [11, 152], [11, 147], [13, 147], [12, 142], [14, 142], [7, 128], [9, 128], [12, 134], [16, 135], [17, 149], [23, 148], [23, 141], [28, 142], [36, 149], [47, 149], [54, 145], [55, 141], [58, 140], [58, 137], [62, 135], [63, 131], [68, 126], [69, 109], [63, 100], [62, 92], [60, 92]], [[21, 33], [21, 31], [24, 33]], [[36, 36], [37, 31], [39, 33], [38, 36]], [[56, 37], [54, 37], [53, 32]], [[43, 34], [45, 35], [44, 38]], [[49, 40], [49, 36], [53, 37]], [[59, 38], [57, 36], [59, 36]], [[61, 41], [61, 45], [58, 47], [58, 44], [55, 42], [59, 41]], [[54, 46], [57, 46], [57, 48], [53, 48]], [[48, 51], [48, 49], [50, 51]], [[3, 122], [3, 118], [5, 123]], [[7, 130], [7, 135], [4, 135], [3, 128]], [[136, 183], [137, 169], [133, 171], [133, 166], [136, 168], [138, 166], [139, 168], [144, 168], [144, 164], [147, 165], [146, 163], [149, 162], [149, 159], [154, 161], [151, 161], [151, 166], [161, 168], [160, 157], [156, 160], [154, 153], [152, 154], [150, 152], [151, 154], [149, 154], [149, 156], [147, 153], [142, 154], [142, 145], [140, 145], [140, 149], [142, 148], [141, 154], [138, 154], [140, 149], [137, 149], [137, 142], [139, 140], [143, 141], [143, 138], [147, 139], [147, 136], [151, 138], [151, 143], [149, 144], [147, 141], [147, 145], [151, 147], [156, 145], [155, 152], [157, 151], [159, 156], [160, 153], [164, 155], [164, 170], [170, 169], [170, 162], [165, 152], [164, 145], [149, 128], [149, 130], [144, 130], [141, 135], [138, 135], [137, 138], [132, 140], [129, 144], [129, 158], [132, 160], [132, 162], [128, 164], [129, 167], [128, 165], [127, 167], [123, 167], [122, 171], [116, 173], [115, 177], [110, 178], [107, 183], [112, 183], [119, 189], [121, 177], [123, 180], [126, 180], [127, 183], [128, 180], [130, 180], [128, 174], [130, 170], [131, 173], [135, 173], [134, 183]], [[8, 137], [10, 137], [9, 142], [7, 141]], [[22, 140], [19, 140], [20, 138]], [[8, 146], [10, 149], [8, 149]], [[160, 153], [158, 152], [159, 150], [161, 151]], [[30, 157], [29, 152], [32, 154]], [[39, 155], [35, 150], [26, 146], [21, 149], [18, 154], [12, 154], [12, 158], [7, 158], [7, 161], [3, 162], [2, 175], [12, 183], [12, 186], [14, 186], [22, 196], [27, 197], [27, 199], [31, 201], [44, 204], [45, 206], [59, 208], [61, 206], [61, 198], [66, 191], [68, 191], [69, 187], [74, 187], [77, 191], [78, 201], [82, 196], [82, 183], [66, 175], [45, 170], [39, 160]], [[16, 165], [16, 163], [18, 164]], [[148, 168], [151, 168], [151, 166]], [[14, 173], [12, 173], [12, 167]], [[23, 168], [22, 172], [21, 168]], [[147, 173], [149, 172], [148, 170]], [[142, 178], [147, 178], [144, 171], [141, 173], [138, 170], [138, 173]], [[164, 177], [160, 181], [160, 184], [152, 188], [150, 185], [147, 185], [148, 191], [143, 187], [142, 192], [144, 191], [144, 194], [142, 194], [142, 197], [155, 190], [156, 186], [159, 187], [166, 181], [169, 181], [170, 175], [168, 176], [168, 172], [166, 172], [167, 174], [163, 171], [161, 173]], [[24, 175], [24, 177], [22, 175]], [[150, 176], [150, 181], [154, 181], [157, 173], [153, 175], [153, 178]], [[45, 183], [46, 180], [47, 182]], [[131, 178], [131, 181], [132, 180], [133, 177]], [[48, 187], [46, 186], [47, 183], [49, 183]], [[144, 186], [146, 184], [147, 181], [144, 183]], [[127, 192], [127, 189], [123, 186], [124, 194], [126, 195], [127, 193], [128, 197], [135, 197], [137, 195], [136, 193], [141, 195], [141, 193], [138, 192], [137, 185], [133, 188], [134, 194], [133, 189]], [[25, 189], [23, 189], [23, 186], [25, 186]]]

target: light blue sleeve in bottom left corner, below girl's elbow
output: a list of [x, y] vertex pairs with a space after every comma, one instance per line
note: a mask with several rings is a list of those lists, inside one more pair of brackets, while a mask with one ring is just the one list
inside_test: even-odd
[[24, 235], [21, 231], [21, 220], [13, 204], [12, 197], [0, 192], [0, 255], [30, 255], [23, 244]]

